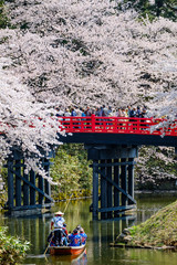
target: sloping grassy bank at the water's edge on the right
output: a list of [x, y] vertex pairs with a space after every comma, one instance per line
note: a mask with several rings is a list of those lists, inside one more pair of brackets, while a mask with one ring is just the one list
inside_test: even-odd
[[[139, 247], [177, 247], [177, 201], [162, 209], [146, 222], [133, 226], [116, 242]], [[124, 231], [123, 231], [124, 233]], [[122, 242], [121, 239], [122, 237]]]

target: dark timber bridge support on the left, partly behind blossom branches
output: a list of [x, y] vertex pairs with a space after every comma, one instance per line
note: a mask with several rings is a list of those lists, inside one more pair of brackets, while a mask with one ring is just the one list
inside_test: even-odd
[[[42, 166], [46, 174], [49, 174], [49, 158], [43, 159]], [[19, 215], [25, 215], [30, 214], [30, 211], [27, 212], [25, 210], [34, 212], [34, 209], [51, 206], [53, 200], [49, 181], [35, 174], [33, 170], [29, 173], [25, 172], [25, 161], [22, 152], [14, 150], [11, 157], [9, 157], [6, 167], [8, 168], [7, 209], [10, 213], [21, 211]]]

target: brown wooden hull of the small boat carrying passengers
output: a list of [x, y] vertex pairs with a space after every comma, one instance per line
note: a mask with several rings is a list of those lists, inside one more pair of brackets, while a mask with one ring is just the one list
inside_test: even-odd
[[85, 250], [85, 245], [81, 246], [50, 246], [51, 255], [74, 255], [79, 256]]

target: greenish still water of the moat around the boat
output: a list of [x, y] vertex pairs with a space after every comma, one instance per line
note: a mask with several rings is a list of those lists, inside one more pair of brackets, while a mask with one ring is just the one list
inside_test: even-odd
[[[136, 197], [137, 211], [133, 220], [124, 221], [92, 221], [88, 212], [91, 200], [71, 201], [64, 214], [67, 230], [81, 224], [88, 236], [86, 253], [80, 258], [71, 261], [65, 257], [44, 257], [45, 239], [50, 230], [52, 213], [29, 218], [6, 218], [0, 215], [0, 225], [9, 227], [11, 235], [18, 235], [32, 243], [24, 264], [29, 265], [177, 265], [177, 253], [150, 250], [112, 248], [114, 242], [124, 227], [144, 222], [160, 208], [176, 200], [175, 195], [142, 194]], [[64, 210], [66, 202], [55, 204], [52, 212]]]

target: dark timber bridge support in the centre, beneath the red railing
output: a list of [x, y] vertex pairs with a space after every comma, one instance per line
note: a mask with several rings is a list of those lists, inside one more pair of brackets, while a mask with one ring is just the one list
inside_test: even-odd
[[[134, 158], [137, 147], [85, 145], [93, 160], [93, 219], [113, 219], [134, 209]], [[98, 195], [98, 191], [101, 194]], [[100, 214], [101, 213], [101, 214]]]

